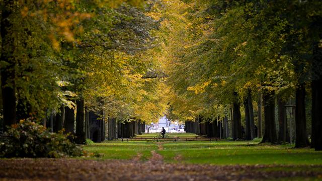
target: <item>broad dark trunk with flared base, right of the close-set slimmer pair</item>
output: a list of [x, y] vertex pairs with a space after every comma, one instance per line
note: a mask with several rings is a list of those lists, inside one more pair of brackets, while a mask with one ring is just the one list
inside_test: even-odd
[[265, 91], [264, 96], [265, 132], [261, 143], [276, 143], [275, 100], [274, 91]]

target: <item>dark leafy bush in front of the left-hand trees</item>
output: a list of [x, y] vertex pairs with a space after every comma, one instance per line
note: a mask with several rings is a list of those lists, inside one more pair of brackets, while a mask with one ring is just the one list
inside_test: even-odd
[[51, 133], [31, 119], [12, 125], [0, 139], [0, 157], [66, 157], [85, 154], [68, 135]]

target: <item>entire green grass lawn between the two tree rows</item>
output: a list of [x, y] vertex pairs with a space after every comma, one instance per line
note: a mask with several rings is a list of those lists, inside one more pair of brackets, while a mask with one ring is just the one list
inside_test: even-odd
[[[152, 134], [149, 134], [152, 135]], [[155, 134], [154, 134], [155, 135]], [[176, 134], [170, 134], [177, 136]], [[142, 135], [145, 136], [145, 135]], [[180, 137], [195, 136], [181, 134]], [[161, 154], [169, 163], [207, 164], [322, 164], [322, 151], [309, 148], [294, 149], [294, 145], [258, 144], [254, 141], [168, 141], [161, 142], [158, 150], [153, 141], [106, 141], [84, 147], [90, 152], [102, 153], [102, 159], [132, 159], [138, 154], [141, 160], [151, 157], [151, 151]]]

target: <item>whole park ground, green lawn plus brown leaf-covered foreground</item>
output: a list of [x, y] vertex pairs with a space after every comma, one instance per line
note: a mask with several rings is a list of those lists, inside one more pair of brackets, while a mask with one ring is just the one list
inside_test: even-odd
[[[154, 138], [156, 134], [144, 134]], [[0, 160], [0, 180], [322, 180], [322, 152], [254, 141], [118, 140], [84, 149], [96, 157]], [[139, 140], [139, 141], [138, 141]]]

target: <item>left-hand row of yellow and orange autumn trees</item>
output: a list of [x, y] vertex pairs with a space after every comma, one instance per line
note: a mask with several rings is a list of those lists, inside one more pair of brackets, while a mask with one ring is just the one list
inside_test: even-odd
[[160, 96], [165, 84], [156, 78], [159, 63], [149, 56], [156, 47], [153, 31], [160, 26], [145, 15], [151, 4], [0, 3], [4, 131], [35, 117], [52, 131], [64, 129], [75, 133], [76, 143], [85, 143], [90, 118], [100, 127], [95, 136], [104, 140], [105, 134], [112, 137], [116, 120], [143, 124], [165, 112], [167, 102]]

